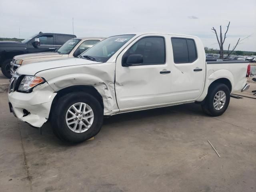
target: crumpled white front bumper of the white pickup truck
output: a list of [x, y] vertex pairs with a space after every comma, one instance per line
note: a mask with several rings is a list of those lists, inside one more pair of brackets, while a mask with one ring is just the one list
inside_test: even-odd
[[41, 127], [49, 118], [56, 94], [47, 83], [36, 86], [31, 93], [10, 92], [10, 110], [19, 120]]

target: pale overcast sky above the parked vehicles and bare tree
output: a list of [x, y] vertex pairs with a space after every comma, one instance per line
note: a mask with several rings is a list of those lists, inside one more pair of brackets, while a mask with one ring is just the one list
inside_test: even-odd
[[256, 52], [256, 0], [1, 0], [0, 36], [42, 32], [76, 36], [112, 36], [128, 32], [167, 32], [199, 36], [218, 48], [211, 28], [223, 31], [230, 21], [224, 49], [251, 35], [236, 50]]

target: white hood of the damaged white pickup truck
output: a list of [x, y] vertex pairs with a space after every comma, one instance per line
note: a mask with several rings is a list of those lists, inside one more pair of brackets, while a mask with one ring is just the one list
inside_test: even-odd
[[62, 67], [86, 65], [86, 64], [98, 64], [98, 63], [101, 63], [101, 62], [95, 62], [95, 61], [81, 59], [81, 58], [56, 59], [56, 60], [42, 61], [42, 62], [22, 65], [17, 69], [17, 73], [24, 74], [24, 75], [35, 75], [40, 71], [54, 69], [54, 68], [62, 68]]

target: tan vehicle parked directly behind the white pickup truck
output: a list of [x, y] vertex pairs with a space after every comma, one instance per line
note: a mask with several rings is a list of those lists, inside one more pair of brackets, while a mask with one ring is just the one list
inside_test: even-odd
[[82, 52], [103, 40], [103, 37], [73, 38], [64, 43], [54, 52], [30, 53], [14, 56], [11, 65], [11, 75], [14, 74], [20, 65], [30, 64], [39, 61], [77, 57]]

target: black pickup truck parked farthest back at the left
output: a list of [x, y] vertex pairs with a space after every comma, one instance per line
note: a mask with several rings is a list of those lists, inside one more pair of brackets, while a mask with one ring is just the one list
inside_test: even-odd
[[2, 73], [8, 78], [12, 77], [10, 74], [10, 62], [16, 55], [54, 51], [67, 40], [75, 37], [75, 35], [70, 34], [39, 32], [22, 42], [0, 41], [0, 67]]

